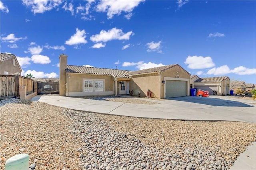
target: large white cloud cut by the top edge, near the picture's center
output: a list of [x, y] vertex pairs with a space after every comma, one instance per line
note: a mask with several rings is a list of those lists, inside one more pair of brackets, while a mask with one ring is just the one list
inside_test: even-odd
[[107, 12], [108, 19], [121, 12], [132, 12], [132, 10], [144, 0], [102, 0], [96, 6], [98, 12]]

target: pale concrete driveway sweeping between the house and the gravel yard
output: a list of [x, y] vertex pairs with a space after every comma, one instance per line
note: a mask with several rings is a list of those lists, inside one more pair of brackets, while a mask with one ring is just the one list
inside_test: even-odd
[[[146, 98], [136, 98], [150, 100]], [[169, 98], [155, 105], [129, 104], [102, 100], [70, 98], [56, 95], [35, 96], [31, 100], [46, 102], [69, 109], [123, 115], [176, 120], [241, 121], [256, 123], [256, 101], [230, 96]], [[150, 100], [152, 101], [152, 100]]]

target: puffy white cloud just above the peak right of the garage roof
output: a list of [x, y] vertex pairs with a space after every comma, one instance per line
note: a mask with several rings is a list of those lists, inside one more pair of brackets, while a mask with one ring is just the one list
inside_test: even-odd
[[196, 55], [189, 55], [184, 63], [188, 64], [188, 68], [191, 69], [211, 68], [215, 66], [211, 57], [202, 57]]

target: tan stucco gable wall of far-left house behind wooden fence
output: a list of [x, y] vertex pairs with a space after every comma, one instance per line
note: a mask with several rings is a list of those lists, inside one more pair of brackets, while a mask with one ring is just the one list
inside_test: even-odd
[[0, 68], [0, 74], [4, 74], [4, 71], [8, 71], [10, 75], [15, 74], [16, 72], [19, 72], [19, 75], [21, 75], [21, 70], [18, 66], [17, 61], [15, 60], [15, 66], [13, 65], [13, 59], [11, 58], [9, 60], [1, 62], [1, 68]]

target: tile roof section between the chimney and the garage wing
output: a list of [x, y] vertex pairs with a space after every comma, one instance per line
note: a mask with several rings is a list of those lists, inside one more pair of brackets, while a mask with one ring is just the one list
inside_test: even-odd
[[66, 72], [111, 75], [113, 77], [119, 77], [119, 78], [130, 78], [129, 76], [127, 76], [127, 74], [131, 71], [117, 70], [117, 69], [110, 69], [110, 68], [96, 68], [96, 67], [68, 65], [67, 69], [66, 69]]

